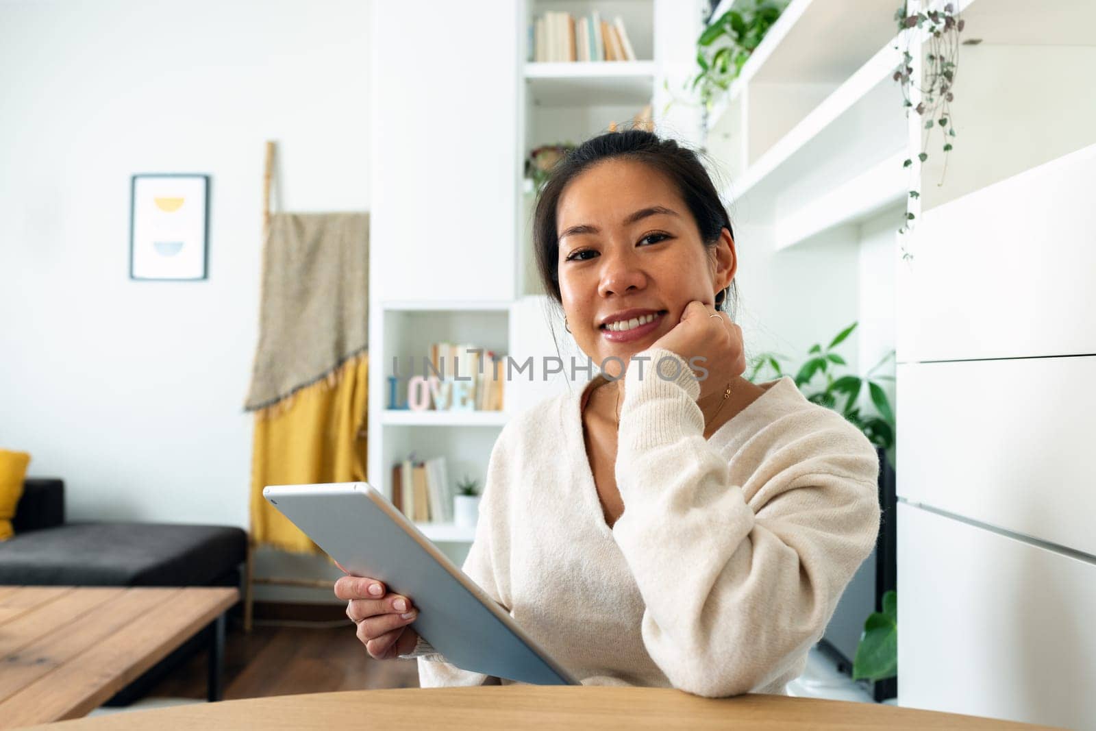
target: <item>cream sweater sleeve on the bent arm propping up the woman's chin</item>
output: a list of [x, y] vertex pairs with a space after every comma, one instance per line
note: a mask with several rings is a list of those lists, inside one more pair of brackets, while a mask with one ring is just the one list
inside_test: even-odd
[[[680, 689], [749, 693], [822, 637], [870, 553], [878, 456], [847, 422], [784, 414], [769, 427], [791, 438], [768, 448], [746, 492], [704, 437], [700, 385], [686, 362], [664, 349], [643, 354], [678, 365], [674, 379], [629, 367], [620, 410], [625, 510], [613, 534], [643, 597], [643, 643]], [[662, 373], [673, 373], [670, 363]]]

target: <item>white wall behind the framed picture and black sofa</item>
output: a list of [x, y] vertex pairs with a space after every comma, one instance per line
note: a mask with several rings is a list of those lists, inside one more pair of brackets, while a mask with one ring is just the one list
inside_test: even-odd
[[[263, 144], [368, 209], [369, 4], [0, 2], [0, 446], [71, 518], [248, 525]], [[209, 278], [128, 279], [129, 175], [212, 176]]]

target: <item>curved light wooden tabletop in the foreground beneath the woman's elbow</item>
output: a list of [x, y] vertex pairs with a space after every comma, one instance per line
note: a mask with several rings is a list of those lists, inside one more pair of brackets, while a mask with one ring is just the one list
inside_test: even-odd
[[877, 704], [788, 696], [701, 698], [666, 688], [504, 685], [274, 696], [65, 721], [38, 729], [1035, 729]]

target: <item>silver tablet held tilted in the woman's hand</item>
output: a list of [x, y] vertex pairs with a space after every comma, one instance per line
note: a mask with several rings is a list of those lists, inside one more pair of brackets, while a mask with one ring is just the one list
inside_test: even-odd
[[285, 484], [263, 496], [354, 575], [411, 599], [411, 627], [457, 667], [536, 685], [581, 685], [505, 609], [366, 482]]

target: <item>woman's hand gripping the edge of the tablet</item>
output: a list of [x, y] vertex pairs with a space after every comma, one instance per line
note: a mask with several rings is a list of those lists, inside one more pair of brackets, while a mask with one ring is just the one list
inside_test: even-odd
[[[335, 561], [343, 571], [342, 564]], [[419, 616], [411, 599], [386, 593], [385, 584], [367, 576], [353, 576], [346, 571], [335, 582], [335, 596], [346, 599], [346, 616], [357, 625], [357, 639], [369, 656], [388, 660], [414, 650], [419, 635], [408, 627]]]

